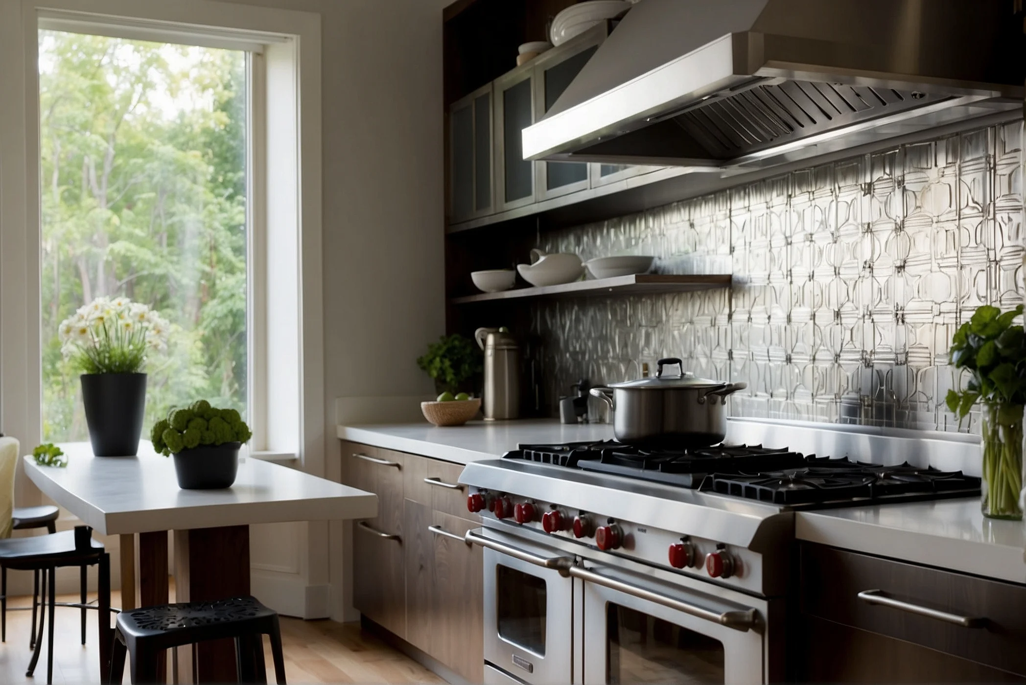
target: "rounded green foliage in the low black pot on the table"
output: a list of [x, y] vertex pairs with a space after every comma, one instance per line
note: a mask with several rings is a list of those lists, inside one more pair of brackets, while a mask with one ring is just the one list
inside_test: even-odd
[[218, 409], [206, 400], [193, 402], [184, 409], [171, 409], [167, 418], [154, 424], [150, 431], [153, 448], [164, 456], [200, 445], [246, 442], [251, 437], [252, 432], [238, 411]]

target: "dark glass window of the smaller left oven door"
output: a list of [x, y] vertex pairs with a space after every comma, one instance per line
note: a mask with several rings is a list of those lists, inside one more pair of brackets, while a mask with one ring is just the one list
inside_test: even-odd
[[545, 656], [545, 580], [501, 564], [496, 573], [499, 636], [521, 649]]

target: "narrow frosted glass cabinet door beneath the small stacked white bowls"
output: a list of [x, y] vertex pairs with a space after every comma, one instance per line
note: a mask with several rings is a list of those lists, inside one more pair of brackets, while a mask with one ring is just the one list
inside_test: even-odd
[[496, 109], [498, 210], [535, 202], [535, 162], [523, 158], [522, 131], [535, 123], [534, 69], [516, 69], [492, 83]]

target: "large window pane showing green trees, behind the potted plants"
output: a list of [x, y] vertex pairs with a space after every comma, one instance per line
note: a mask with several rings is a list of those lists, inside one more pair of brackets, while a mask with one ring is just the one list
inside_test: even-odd
[[39, 32], [43, 440], [87, 438], [57, 328], [103, 296], [171, 324], [146, 426], [199, 398], [246, 414], [252, 54]]

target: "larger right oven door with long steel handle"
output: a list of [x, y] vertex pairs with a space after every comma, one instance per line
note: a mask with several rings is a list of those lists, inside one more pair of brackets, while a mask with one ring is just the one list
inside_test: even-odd
[[763, 682], [759, 600], [585, 566], [585, 683]]

